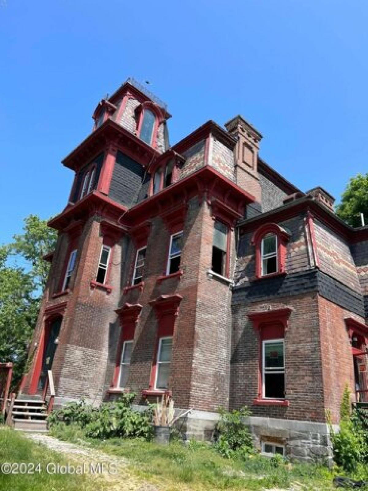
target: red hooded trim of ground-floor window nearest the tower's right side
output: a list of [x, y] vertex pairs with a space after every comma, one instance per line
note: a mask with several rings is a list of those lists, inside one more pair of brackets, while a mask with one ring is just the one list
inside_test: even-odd
[[135, 327], [139, 321], [139, 316], [142, 310], [140, 303], [128, 303], [126, 302], [121, 308], [115, 310], [119, 317], [120, 322], [120, 337], [117, 345], [114, 374], [110, 386], [117, 387], [119, 381], [121, 350], [123, 348], [124, 341], [134, 340]]

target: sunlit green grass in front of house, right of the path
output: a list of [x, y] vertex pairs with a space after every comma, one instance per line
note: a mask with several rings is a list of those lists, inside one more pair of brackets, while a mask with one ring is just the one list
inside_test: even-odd
[[[101, 441], [85, 438], [77, 427], [54, 427], [53, 434], [89, 446], [106, 454], [124, 457], [133, 465], [131, 472], [160, 484], [164, 490], [244, 490], [288, 489], [328, 491], [334, 473], [322, 465], [290, 464], [283, 459], [255, 456], [247, 460], [222, 458], [210, 445], [172, 441], [167, 446], [139, 439], [112, 438]], [[368, 477], [368, 476], [367, 476]]]

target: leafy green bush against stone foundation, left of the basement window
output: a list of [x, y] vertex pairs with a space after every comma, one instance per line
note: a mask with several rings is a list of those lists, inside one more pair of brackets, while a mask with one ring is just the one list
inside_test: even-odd
[[220, 411], [221, 418], [216, 425], [218, 437], [215, 448], [223, 457], [227, 459], [236, 456], [244, 458], [255, 453], [252, 435], [244, 424], [244, 418], [250, 414], [247, 408]]

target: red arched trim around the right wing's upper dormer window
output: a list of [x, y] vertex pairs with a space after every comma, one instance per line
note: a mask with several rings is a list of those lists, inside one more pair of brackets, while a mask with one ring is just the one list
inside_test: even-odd
[[265, 223], [261, 225], [253, 234], [251, 244], [255, 246], [255, 255], [256, 255], [256, 274], [255, 277], [257, 279], [260, 278], [269, 278], [272, 275], [276, 275], [276, 273], [272, 274], [264, 274], [262, 275], [262, 240], [267, 234], [273, 234], [277, 238], [277, 267], [278, 271], [276, 273], [282, 274], [286, 273], [286, 252], [287, 252], [287, 244], [290, 240], [289, 233], [284, 230], [277, 223]]

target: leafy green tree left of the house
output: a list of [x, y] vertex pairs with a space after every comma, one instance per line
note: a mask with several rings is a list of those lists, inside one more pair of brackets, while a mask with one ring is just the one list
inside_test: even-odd
[[55, 243], [56, 234], [46, 221], [30, 215], [25, 218], [24, 234], [0, 246], [0, 362], [14, 363], [13, 385], [25, 371], [27, 346], [49, 272], [42, 256]]

